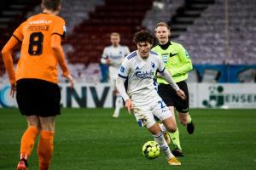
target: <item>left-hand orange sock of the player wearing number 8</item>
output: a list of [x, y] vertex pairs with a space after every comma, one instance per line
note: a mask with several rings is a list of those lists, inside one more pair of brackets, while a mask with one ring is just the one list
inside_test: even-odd
[[27, 159], [30, 156], [35, 141], [38, 136], [38, 128], [34, 126], [27, 127], [25, 133], [23, 133], [20, 142], [20, 160]]

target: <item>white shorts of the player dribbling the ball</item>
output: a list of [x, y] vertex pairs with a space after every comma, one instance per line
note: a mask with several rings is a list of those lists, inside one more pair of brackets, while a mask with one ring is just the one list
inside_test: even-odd
[[150, 102], [148, 103], [148, 105], [133, 105], [133, 114], [136, 117], [136, 120], [140, 127], [152, 127], [155, 123], [154, 116], [160, 119], [161, 122], [166, 118], [173, 116], [172, 111], [169, 110], [169, 108], [162, 100]]

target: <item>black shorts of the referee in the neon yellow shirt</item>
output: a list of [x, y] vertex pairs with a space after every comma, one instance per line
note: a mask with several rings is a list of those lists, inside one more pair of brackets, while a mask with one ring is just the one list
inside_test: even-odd
[[181, 99], [170, 84], [160, 83], [158, 86], [158, 94], [167, 106], [174, 106], [178, 112], [186, 113], [189, 111], [189, 90], [187, 82], [177, 82], [177, 86], [186, 94], [186, 99]]

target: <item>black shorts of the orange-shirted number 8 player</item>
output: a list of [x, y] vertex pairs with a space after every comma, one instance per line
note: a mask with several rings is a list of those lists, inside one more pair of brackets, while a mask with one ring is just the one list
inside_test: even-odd
[[16, 90], [21, 115], [47, 117], [61, 114], [61, 90], [57, 84], [40, 79], [20, 79]]

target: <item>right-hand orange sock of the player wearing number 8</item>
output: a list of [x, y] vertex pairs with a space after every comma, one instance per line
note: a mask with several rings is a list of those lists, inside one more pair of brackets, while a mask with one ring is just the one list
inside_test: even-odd
[[53, 154], [54, 132], [41, 131], [38, 142], [39, 170], [48, 170], [49, 162]]

